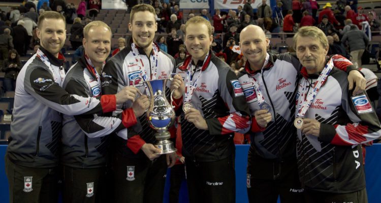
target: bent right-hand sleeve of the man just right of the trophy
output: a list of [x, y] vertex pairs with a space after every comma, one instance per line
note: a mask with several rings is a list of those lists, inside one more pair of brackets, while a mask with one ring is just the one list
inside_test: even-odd
[[224, 117], [208, 118], [206, 123], [210, 134], [245, 133], [249, 130], [250, 111], [236, 74], [229, 70], [218, 79], [218, 89], [230, 114]]

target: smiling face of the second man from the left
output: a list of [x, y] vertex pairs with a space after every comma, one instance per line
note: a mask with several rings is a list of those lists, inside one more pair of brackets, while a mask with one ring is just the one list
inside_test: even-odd
[[111, 51], [111, 31], [104, 26], [92, 26], [83, 38], [83, 48], [92, 64], [102, 67]]

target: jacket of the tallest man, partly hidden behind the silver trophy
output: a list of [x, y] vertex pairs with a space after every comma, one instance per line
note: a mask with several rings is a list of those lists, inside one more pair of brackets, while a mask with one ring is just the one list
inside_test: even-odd
[[[132, 86], [133, 80], [138, 76], [141, 76], [138, 62], [135, 60], [132, 53], [131, 44], [132, 41], [130, 41], [128, 46], [107, 61], [102, 73], [103, 93], [113, 94], [125, 86]], [[152, 62], [151, 59], [154, 54], [153, 50], [150, 58], [146, 56], [142, 48], [138, 48], [138, 51], [144, 64], [144, 68], [146, 69], [147, 77], [149, 78], [151, 75], [150, 67]], [[156, 67], [156, 79], [169, 78], [175, 67], [175, 59], [169, 54], [159, 50]], [[167, 87], [169, 87], [169, 85], [170, 82], [167, 83]], [[139, 80], [135, 81], [135, 86], [141, 93], [146, 94], [145, 86], [143, 84], [139, 85]], [[167, 93], [170, 93], [169, 88], [167, 90]], [[132, 102], [128, 100], [123, 105], [117, 106], [117, 110], [113, 112], [113, 115], [131, 107]], [[154, 138], [155, 131], [149, 127], [148, 122], [146, 121], [146, 114], [143, 114], [137, 120], [137, 124], [133, 127], [116, 132], [116, 150], [119, 150], [120, 153], [126, 156], [145, 157], [144, 153], [138, 152], [141, 152], [140, 148], [145, 143], [154, 143], [156, 141]], [[125, 147], [126, 145], [128, 148]]]

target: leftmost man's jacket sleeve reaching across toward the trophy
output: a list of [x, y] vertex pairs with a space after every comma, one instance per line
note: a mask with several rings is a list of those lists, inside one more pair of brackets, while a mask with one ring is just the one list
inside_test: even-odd
[[41, 68], [35, 68], [25, 74], [24, 88], [41, 103], [70, 116], [110, 112], [116, 107], [115, 95], [93, 98], [69, 94], [54, 82], [49, 71]]

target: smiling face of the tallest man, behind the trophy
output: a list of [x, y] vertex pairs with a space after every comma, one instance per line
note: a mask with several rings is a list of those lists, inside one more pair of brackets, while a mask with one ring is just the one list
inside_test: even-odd
[[134, 43], [144, 50], [152, 49], [152, 41], [157, 30], [157, 23], [153, 13], [139, 11], [134, 14], [133, 21], [129, 23]]

